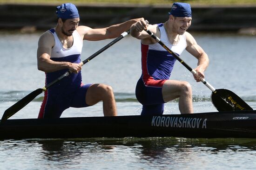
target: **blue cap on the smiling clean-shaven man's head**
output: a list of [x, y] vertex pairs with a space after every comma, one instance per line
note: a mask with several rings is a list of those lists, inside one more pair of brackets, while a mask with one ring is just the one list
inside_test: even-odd
[[182, 2], [175, 2], [168, 14], [175, 17], [192, 17], [190, 5]]

